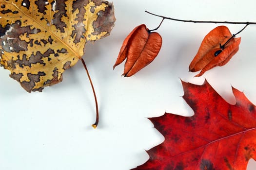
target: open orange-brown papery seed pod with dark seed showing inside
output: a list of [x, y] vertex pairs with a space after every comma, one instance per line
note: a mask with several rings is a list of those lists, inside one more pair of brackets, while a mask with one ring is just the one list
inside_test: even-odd
[[226, 26], [218, 26], [208, 33], [189, 65], [189, 71], [200, 71], [195, 77], [211, 68], [225, 65], [239, 49], [241, 38], [235, 38]]

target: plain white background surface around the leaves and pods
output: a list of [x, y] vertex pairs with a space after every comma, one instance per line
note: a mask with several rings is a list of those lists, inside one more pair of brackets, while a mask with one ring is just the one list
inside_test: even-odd
[[[116, 26], [111, 35], [87, 45], [84, 55], [96, 88], [99, 125], [93, 129], [95, 106], [86, 72], [79, 62], [66, 70], [63, 82], [42, 93], [27, 93], [0, 68], [0, 170], [128, 170], [143, 164], [161, 136], [146, 117], [193, 111], [180, 97], [179, 78], [202, 84], [204, 77], [235, 103], [231, 85], [256, 103], [256, 26], [248, 26], [240, 50], [224, 67], [194, 78], [188, 66], [203, 37], [218, 24], [165, 20], [158, 33], [158, 57], [135, 76], [123, 78], [123, 64], [112, 69], [123, 39], [139, 24], [149, 29], [161, 18], [256, 21], [255, 0], [114, 0]], [[235, 34], [243, 25], [227, 25]], [[248, 170], [255, 170], [250, 160]]]

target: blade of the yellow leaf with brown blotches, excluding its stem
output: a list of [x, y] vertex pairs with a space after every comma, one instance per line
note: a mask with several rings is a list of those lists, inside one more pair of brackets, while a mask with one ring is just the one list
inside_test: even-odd
[[62, 81], [88, 41], [110, 34], [112, 3], [103, 0], [1, 0], [0, 65], [28, 92]]

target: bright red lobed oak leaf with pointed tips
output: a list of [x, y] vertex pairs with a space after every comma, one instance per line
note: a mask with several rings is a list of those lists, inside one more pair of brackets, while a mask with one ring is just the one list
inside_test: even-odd
[[150, 118], [165, 140], [135, 170], [246, 170], [256, 160], [256, 106], [235, 88], [232, 105], [206, 81], [182, 85], [195, 115]]

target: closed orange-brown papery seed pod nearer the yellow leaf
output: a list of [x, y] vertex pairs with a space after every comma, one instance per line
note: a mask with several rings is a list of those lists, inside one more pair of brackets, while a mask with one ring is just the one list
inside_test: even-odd
[[124, 39], [113, 68], [127, 58], [122, 75], [130, 77], [150, 64], [157, 57], [161, 46], [161, 36], [141, 24]]

